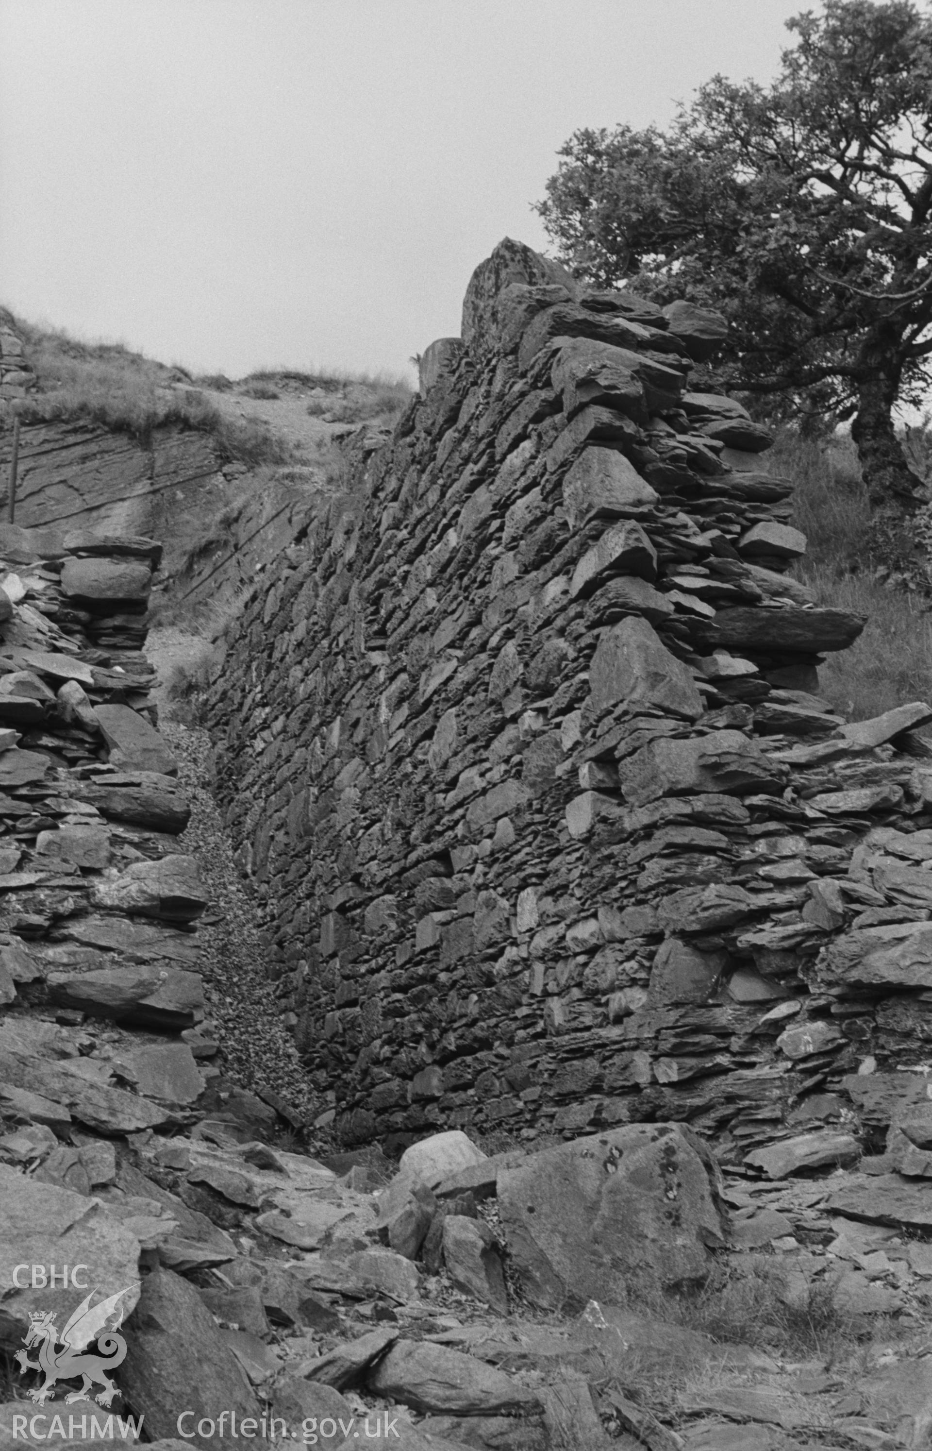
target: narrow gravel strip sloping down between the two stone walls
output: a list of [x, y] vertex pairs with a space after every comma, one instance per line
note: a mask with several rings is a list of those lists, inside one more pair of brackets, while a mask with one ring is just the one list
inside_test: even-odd
[[265, 975], [265, 953], [249, 897], [233, 862], [233, 850], [210, 791], [212, 746], [206, 730], [159, 721], [159, 731], [178, 760], [178, 781], [191, 802], [191, 820], [178, 846], [197, 858], [210, 894], [199, 926], [199, 971], [209, 1017], [229, 1077], [254, 1093], [271, 1088], [306, 1122], [328, 1106], [315, 1094], [291, 1035], [281, 1023], [274, 988]]

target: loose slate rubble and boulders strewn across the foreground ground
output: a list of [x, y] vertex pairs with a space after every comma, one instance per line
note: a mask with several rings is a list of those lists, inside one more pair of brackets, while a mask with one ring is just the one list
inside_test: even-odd
[[[164, 1451], [239, 1439], [791, 1451], [925, 1435], [929, 1361], [909, 1329], [922, 1339], [929, 1246], [829, 1207], [831, 1244], [800, 1249], [790, 1233], [846, 1193], [845, 1171], [774, 1183], [760, 1197], [781, 1209], [729, 1210], [736, 1191], [675, 1125], [494, 1156], [449, 1130], [399, 1165], [378, 1149], [319, 1161], [270, 1145], [258, 1100], [213, 1111], [203, 1077], [199, 1091], [180, 1059], [168, 1066], [168, 1046], [122, 1043], [107, 1062], [128, 1088], [106, 1090], [90, 1024], [83, 1039], [36, 1016], [23, 1024], [49, 1090], [61, 1065], [83, 1062], [100, 1096], [158, 1113], [101, 1136], [86, 1119], [52, 1129], [20, 1110], [0, 1138], [0, 1345], [17, 1367], [0, 1445], [68, 1444], [81, 1416], [71, 1444], [107, 1444], [113, 1416], [125, 1439], [142, 1429]], [[765, 1242], [762, 1228], [781, 1238]], [[780, 1326], [751, 1325], [751, 1342], [686, 1328], [678, 1300], [722, 1259], [800, 1320], [817, 1286], [862, 1333], [883, 1316], [889, 1335], [896, 1316], [897, 1348], [862, 1348], [854, 1386], [823, 1355], [793, 1354]], [[30, 1264], [57, 1264], [58, 1283], [32, 1284]], [[45, 1387], [23, 1351], [33, 1315], [61, 1329], [87, 1303], [83, 1286], [62, 1286], [62, 1264], [86, 1267], [101, 1310], [119, 1302], [126, 1354], [113, 1381], [100, 1381], [113, 1339], [83, 1357], [97, 1381], [81, 1387], [68, 1365]]]

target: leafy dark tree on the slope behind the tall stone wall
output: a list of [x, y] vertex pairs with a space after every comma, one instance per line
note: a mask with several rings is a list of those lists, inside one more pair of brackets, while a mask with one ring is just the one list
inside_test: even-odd
[[932, 380], [932, 19], [825, 0], [789, 29], [767, 87], [575, 132], [538, 210], [577, 274], [725, 312], [729, 386], [851, 418], [874, 495], [912, 492], [891, 409]]

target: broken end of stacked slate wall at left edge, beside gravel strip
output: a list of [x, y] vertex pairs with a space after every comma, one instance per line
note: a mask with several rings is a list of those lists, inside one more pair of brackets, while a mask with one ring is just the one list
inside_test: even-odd
[[[158, 1122], [151, 1104], [109, 1087], [106, 1043], [119, 1030], [107, 1024], [186, 1035], [149, 1055], [139, 1081], [158, 1080], [164, 1052], [200, 1082], [191, 1053], [216, 1052], [199, 1030], [191, 936], [206, 897], [177, 846], [190, 811], [138, 649], [158, 556], [143, 538], [0, 525], [4, 1122], [33, 1110], [55, 1130]], [[122, 1077], [136, 1081], [129, 1066]]]

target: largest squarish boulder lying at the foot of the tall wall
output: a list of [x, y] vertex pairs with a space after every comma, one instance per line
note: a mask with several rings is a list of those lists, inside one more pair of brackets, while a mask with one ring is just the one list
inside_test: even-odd
[[678, 1123], [626, 1125], [535, 1154], [499, 1175], [512, 1265], [542, 1309], [702, 1283], [725, 1232], [715, 1171]]

